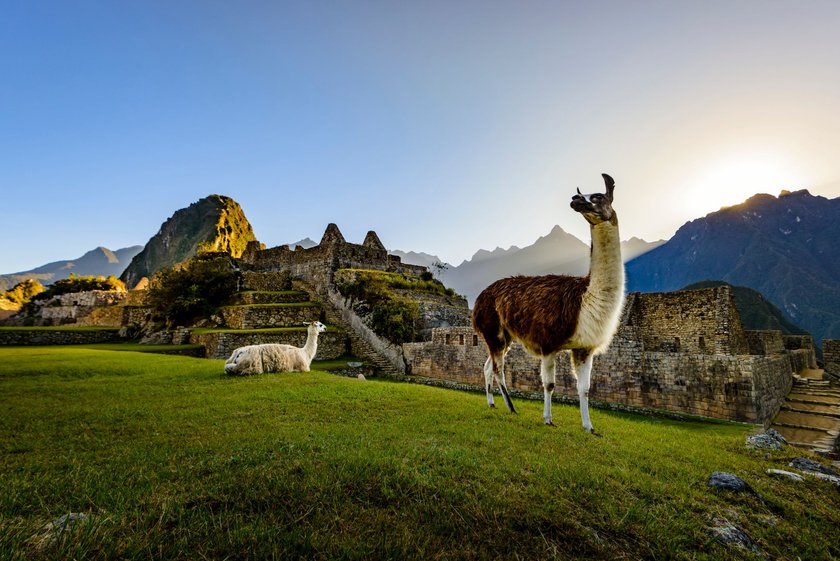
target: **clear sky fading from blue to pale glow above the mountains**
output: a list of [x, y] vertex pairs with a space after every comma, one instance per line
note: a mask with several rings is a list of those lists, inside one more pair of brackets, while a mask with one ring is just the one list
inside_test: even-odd
[[623, 238], [840, 195], [840, 2], [0, 0], [0, 272], [220, 193], [452, 263], [616, 179]]

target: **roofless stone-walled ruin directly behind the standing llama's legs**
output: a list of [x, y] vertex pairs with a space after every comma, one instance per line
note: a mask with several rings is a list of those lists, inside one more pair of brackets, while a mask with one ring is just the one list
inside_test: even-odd
[[[483, 386], [487, 349], [471, 327], [436, 329], [430, 343], [403, 349], [412, 376]], [[517, 344], [505, 364], [510, 388], [542, 397], [537, 359]], [[632, 293], [612, 345], [595, 359], [590, 398], [767, 423], [790, 391], [793, 373], [815, 366], [810, 337], [745, 331], [727, 286]], [[557, 359], [556, 394], [577, 396], [566, 353]]]

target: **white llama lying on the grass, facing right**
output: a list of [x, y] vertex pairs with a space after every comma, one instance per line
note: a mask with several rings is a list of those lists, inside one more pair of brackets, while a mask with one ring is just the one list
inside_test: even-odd
[[326, 330], [320, 321], [307, 324], [306, 344], [303, 347], [279, 343], [239, 347], [225, 362], [225, 374], [309, 372], [309, 365], [318, 351], [318, 334]]

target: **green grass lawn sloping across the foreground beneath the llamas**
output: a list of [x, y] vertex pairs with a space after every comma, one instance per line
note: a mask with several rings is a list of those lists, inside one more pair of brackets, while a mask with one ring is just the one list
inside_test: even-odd
[[[0, 559], [840, 557], [840, 493], [765, 475], [750, 427], [222, 361], [0, 349]], [[766, 499], [707, 490], [716, 470]], [[50, 539], [43, 527], [88, 515]]]

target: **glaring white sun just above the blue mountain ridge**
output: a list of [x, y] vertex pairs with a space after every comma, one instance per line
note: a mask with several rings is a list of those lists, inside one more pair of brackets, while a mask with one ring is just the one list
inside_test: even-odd
[[799, 166], [777, 153], [724, 156], [701, 169], [686, 189], [685, 203], [695, 212], [712, 212], [745, 201], [756, 193], [778, 195], [805, 186]]

